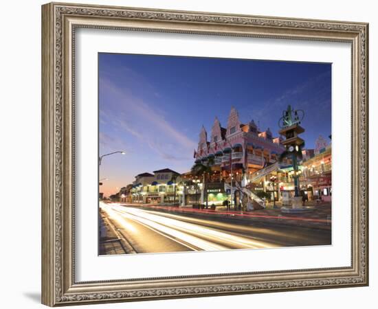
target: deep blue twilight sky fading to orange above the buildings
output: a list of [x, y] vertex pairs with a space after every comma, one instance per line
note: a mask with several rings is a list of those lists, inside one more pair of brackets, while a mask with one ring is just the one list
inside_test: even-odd
[[210, 139], [231, 106], [274, 137], [288, 104], [303, 109], [307, 148], [331, 134], [331, 64], [100, 53], [98, 68], [99, 155], [126, 151], [102, 160], [105, 196], [142, 172], [188, 172], [201, 126]]

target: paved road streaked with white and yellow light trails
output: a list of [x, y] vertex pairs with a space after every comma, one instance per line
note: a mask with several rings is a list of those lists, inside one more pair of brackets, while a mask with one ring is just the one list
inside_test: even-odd
[[100, 208], [137, 253], [217, 251], [331, 244], [331, 231], [258, 227], [119, 204]]

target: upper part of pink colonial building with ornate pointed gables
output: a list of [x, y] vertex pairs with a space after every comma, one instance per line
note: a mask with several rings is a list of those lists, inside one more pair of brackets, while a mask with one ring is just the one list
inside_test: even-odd
[[214, 159], [214, 177], [225, 179], [232, 174], [236, 180], [246, 172], [250, 175], [271, 163], [275, 163], [280, 153], [285, 150], [280, 137], [274, 137], [267, 128], [258, 130], [254, 120], [242, 124], [238, 112], [231, 108], [227, 119], [227, 128], [223, 128], [216, 117], [212, 125], [210, 140], [205, 128], [199, 134], [196, 162]]

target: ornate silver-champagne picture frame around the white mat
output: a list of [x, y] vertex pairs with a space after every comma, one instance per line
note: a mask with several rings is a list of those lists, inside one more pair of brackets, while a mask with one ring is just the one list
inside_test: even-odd
[[[351, 265], [78, 282], [74, 133], [75, 39], [79, 28], [350, 43]], [[368, 24], [45, 4], [42, 6], [42, 181], [42, 302], [47, 306], [367, 286]]]

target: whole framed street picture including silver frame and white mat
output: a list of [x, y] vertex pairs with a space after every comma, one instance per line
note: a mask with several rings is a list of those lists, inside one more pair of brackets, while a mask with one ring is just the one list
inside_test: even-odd
[[42, 6], [42, 302], [368, 285], [368, 24]]

